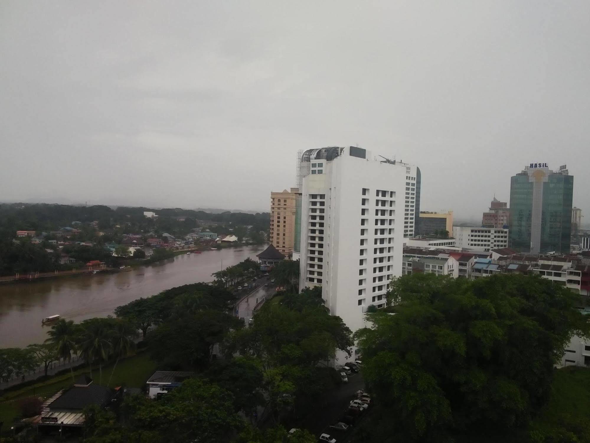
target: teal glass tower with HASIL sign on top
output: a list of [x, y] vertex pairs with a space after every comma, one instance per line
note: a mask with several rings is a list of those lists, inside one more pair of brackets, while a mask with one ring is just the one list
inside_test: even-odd
[[510, 180], [510, 241], [513, 249], [538, 254], [568, 253], [573, 176], [565, 165], [549, 170], [532, 163]]

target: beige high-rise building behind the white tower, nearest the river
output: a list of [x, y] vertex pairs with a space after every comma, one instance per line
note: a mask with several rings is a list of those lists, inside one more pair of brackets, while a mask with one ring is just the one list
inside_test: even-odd
[[295, 243], [296, 200], [299, 189], [270, 193], [270, 244], [289, 256]]

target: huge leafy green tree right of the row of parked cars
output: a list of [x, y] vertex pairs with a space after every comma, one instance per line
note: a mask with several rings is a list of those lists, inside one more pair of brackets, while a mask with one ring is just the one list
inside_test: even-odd
[[373, 327], [356, 334], [380, 405], [365, 441], [444, 441], [526, 424], [572, 334], [589, 331], [576, 295], [539, 276], [417, 273], [394, 292], [395, 315], [368, 314]]

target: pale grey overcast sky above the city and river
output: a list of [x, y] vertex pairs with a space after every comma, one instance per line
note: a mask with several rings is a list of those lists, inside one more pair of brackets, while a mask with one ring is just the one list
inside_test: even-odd
[[0, 2], [0, 200], [268, 210], [298, 149], [480, 217], [530, 162], [590, 220], [590, 2]]

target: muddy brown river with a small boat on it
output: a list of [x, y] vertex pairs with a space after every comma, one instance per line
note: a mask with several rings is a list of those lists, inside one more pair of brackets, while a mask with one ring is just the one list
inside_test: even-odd
[[80, 321], [106, 317], [114, 308], [164, 289], [212, 281], [211, 274], [256, 259], [264, 246], [244, 246], [178, 255], [128, 272], [97, 273], [0, 285], [0, 348], [42, 343], [48, 326], [41, 319], [60, 314]]

